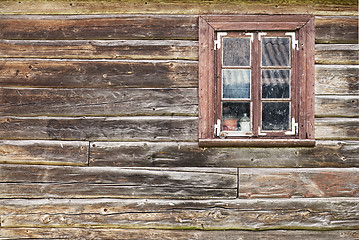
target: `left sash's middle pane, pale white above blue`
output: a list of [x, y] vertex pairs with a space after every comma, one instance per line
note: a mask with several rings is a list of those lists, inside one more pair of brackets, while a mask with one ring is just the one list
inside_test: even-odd
[[249, 69], [223, 69], [223, 98], [249, 98], [250, 78]]

